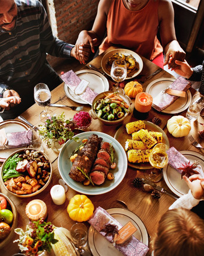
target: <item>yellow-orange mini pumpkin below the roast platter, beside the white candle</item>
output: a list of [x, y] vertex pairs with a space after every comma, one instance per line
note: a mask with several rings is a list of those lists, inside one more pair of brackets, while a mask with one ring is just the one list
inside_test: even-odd
[[92, 201], [85, 195], [75, 195], [69, 201], [67, 212], [69, 217], [76, 222], [86, 222], [93, 215]]

